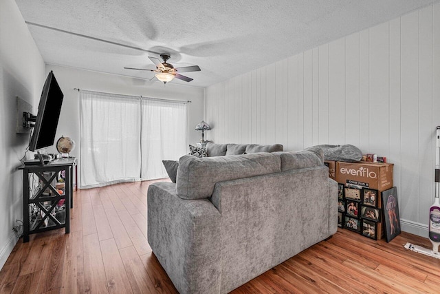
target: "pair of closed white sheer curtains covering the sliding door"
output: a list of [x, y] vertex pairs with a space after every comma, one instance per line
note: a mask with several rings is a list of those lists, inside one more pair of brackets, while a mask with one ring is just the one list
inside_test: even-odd
[[186, 103], [80, 90], [80, 187], [166, 178], [186, 122]]

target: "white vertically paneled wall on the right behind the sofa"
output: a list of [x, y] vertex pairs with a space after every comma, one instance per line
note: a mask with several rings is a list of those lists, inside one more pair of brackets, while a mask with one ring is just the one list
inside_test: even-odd
[[206, 90], [208, 139], [353, 144], [394, 166], [402, 229], [427, 236], [440, 125], [440, 4]]

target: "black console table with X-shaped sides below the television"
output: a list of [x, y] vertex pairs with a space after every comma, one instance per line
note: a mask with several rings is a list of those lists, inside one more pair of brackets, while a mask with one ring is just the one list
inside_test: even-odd
[[[76, 158], [60, 158], [46, 165], [24, 165], [23, 169], [23, 242], [29, 242], [29, 235], [52, 229], [65, 228], [70, 231], [70, 209], [73, 207], [73, 167]], [[53, 182], [65, 171], [64, 187], [57, 189]], [[38, 187], [31, 187], [34, 174]], [[31, 194], [31, 189], [33, 195]], [[63, 189], [64, 188], [64, 189]]]

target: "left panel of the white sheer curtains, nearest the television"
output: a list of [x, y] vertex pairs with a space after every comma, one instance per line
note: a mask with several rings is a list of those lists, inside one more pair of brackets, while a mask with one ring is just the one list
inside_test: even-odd
[[80, 91], [82, 188], [139, 180], [140, 123], [140, 99]]

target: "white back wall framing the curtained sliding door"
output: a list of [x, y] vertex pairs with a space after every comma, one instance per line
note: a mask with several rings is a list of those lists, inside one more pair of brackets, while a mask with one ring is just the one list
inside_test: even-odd
[[[69, 136], [76, 142], [76, 149], [72, 156], [79, 158], [80, 152], [80, 111], [79, 92], [90, 90], [114, 94], [144, 96], [153, 98], [165, 98], [180, 101], [192, 101], [188, 103], [188, 144], [194, 145], [201, 138], [200, 132], [195, 131], [195, 126], [203, 120], [203, 96], [204, 89], [201, 87], [182, 86], [177, 83], [153, 83], [146, 85], [146, 81], [139, 78], [129, 78], [115, 74], [104, 74], [89, 70], [80, 70], [72, 67], [46, 65], [46, 72], [54, 71], [56, 80], [64, 94], [63, 107], [58, 122], [55, 140], [61, 136]], [[49, 153], [58, 153], [55, 147], [46, 149]], [[183, 154], [182, 154], [183, 155]], [[78, 177], [80, 169], [78, 168]]]

